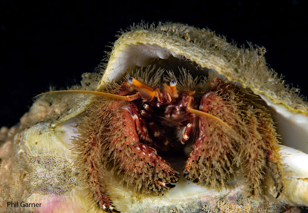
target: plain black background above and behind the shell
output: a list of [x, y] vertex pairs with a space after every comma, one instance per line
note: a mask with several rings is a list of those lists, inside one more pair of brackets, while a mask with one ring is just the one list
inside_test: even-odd
[[[245, 1], [246, 2], [246, 1]], [[144, 20], [209, 27], [228, 41], [264, 46], [271, 68], [308, 94], [307, 13], [302, 1], [287, 2], [18, 2], [0, 9], [0, 127], [12, 126], [31, 98], [73, 85], [110, 51], [120, 29]], [[248, 1], [247, 1], [248, 2]]]

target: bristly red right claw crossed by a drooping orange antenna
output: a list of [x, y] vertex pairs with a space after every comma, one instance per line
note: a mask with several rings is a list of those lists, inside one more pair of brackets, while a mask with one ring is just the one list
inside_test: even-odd
[[[203, 96], [200, 110], [215, 116], [231, 114], [230, 107], [214, 93]], [[231, 116], [223, 120], [235, 123]], [[188, 180], [210, 186], [224, 185], [225, 179], [232, 172], [233, 159], [236, 159], [237, 142], [227, 134], [228, 129], [216, 120], [200, 116], [199, 122], [199, 138], [185, 165], [184, 176]]]

